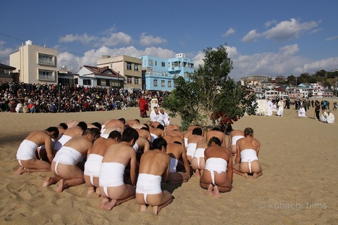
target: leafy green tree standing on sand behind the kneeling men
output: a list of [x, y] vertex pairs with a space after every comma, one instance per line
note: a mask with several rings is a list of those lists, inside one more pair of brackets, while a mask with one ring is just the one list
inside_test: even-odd
[[163, 100], [163, 107], [170, 110], [172, 117], [180, 115], [183, 129], [191, 124], [206, 127], [211, 123], [224, 128], [245, 113], [255, 113], [256, 105], [251, 103], [256, 97], [246, 85], [236, 84], [228, 77], [232, 61], [226, 47], [208, 47], [204, 53], [204, 65], [189, 74], [189, 79], [175, 78], [175, 89]]

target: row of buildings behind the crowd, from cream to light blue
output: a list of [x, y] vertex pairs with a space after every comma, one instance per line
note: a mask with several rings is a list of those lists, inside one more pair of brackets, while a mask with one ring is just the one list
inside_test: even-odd
[[[66, 65], [58, 69], [57, 54], [56, 49], [26, 41], [18, 51], [9, 55], [11, 70], [7, 69], [4, 74], [14, 82], [30, 84], [75, 84], [111, 86], [129, 91], [172, 91], [175, 87], [174, 77], [187, 77], [194, 72], [194, 61], [186, 58], [184, 53], [177, 53], [175, 58], [102, 56], [96, 61], [96, 66], [83, 65], [76, 73], [67, 70]], [[2, 77], [4, 76], [0, 79]]]

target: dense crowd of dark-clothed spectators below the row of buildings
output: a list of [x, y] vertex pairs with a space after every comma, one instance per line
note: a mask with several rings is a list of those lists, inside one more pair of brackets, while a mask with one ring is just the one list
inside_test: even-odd
[[73, 113], [137, 107], [144, 94], [159, 105], [168, 91], [116, 89], [101, 86], [0, 82], [0, 109], [12, 113]]

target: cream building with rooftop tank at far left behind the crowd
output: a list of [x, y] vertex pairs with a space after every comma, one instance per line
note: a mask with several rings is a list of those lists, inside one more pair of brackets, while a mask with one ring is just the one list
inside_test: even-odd
[[37, 46], [28, 40], [9, 55], [9, 64], [16, 68], [13, 75], [18, 77], [18, 82], [57, 84], [57, 53], [56, 49]]

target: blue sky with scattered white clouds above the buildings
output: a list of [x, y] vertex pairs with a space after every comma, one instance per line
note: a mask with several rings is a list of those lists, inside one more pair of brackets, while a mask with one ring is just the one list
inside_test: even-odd
[[207, 47], [227, 46], [230, 77], [298, 77], [338, 69], [338, 1], [1, 1], [0, 62], [27, 40], [58, 49], [78, 72], [102, 55], [173, 58], [195, 68]]

